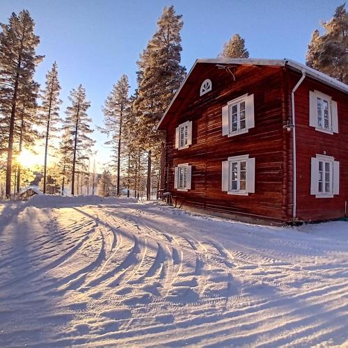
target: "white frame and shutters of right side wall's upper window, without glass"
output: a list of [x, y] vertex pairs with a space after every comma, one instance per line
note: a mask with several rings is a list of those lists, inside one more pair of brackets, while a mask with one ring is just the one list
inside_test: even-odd
[[[318, 117], [318, 104], [317, 100], [321, 100], [321, 109], [322, 109], [322, 126], [319, 125]], [[315, 130], [318, 132], [323, 132], [326, 134], [338, 133], [338, 113], [337, 113], [337, 102], [332, 100], [330, 95], [326, 95], [319, 90], [310, 90], [309, 92], [309, 113], [310, 113], [310, 126], [315, 127]], [[329, 118], [329, 127], [324, 126], [324, 100], [328, 103], [328, 118]]]

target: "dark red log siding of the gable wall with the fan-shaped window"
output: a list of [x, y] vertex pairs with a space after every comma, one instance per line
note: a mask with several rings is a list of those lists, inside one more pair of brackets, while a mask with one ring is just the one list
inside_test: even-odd
[[[284, 178], [291, 165], [288, 159], [291, 132], [283, 130], [288, 117], [284, 69], [239, 66], [235, 76], [233, 81], [226, 70], [201, 64], [183, 86], [182, 97], [171, 107], [166, 125], [166, 189], [180, 205], [288, 221], [292, 205]], [[212, 91], [199, 97], [200, 84], [207, 78], [212, 80]], [[254, 95], [255, 127], [246, 134], [222, 136], [222, 107], [246, 93]], [[193, 122], [192, 145], [177, 150], [175, 128], [187, 120]], [[255, 157], [255, 193], [237, 196], [221, 191], [222, 161], [246, 154]], [[174, 168], [182, 163], [192, 166], [192, 186], [187, 192], [173, 188]]]

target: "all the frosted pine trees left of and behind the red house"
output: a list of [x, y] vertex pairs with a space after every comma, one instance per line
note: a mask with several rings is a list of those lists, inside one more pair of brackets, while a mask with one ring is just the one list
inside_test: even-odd
[[[338, 6], [333, 18], [322, 25], [325, 33], [320, 35], [317, 30], [313, 33], [306, 64], [347, 83], [345, 5]], [[119, 196], [126, 191], [128, 195], [140, 194], [150, 199], [152, 192], [164, 187], [161, 173], [165, 138], [156, 126], [186, 74], [181, 65], [182, 26], [182, 16], [175, 13], [173, 6], [164, 8], [157, 21], [157, 31], [137, 62], [134, 94], [129, 95], [128, 77], [123, 75], [106, 97], [102, 109], [104, 126], [99, 129], [108, 136], [106, 145], [112, 150], [111, 165], [105, 166], [102, 175], [97, 175], [95, 165], [93, 174], [90, 173], [94, 141], [90, 138], [93, 130], [86, 90], [81, 85], [71, 90], [70, 105], [62, 119], [58, 65], [53, 63], [52, 70], [47, 72], [42, 90], [33, 80], [35, 68], [44, 57], [35, 54], [40, 38], [34, 33], [29, 12], [23, 10], [18, 16], [13, 13], [8, 24], [1, 24], [0, 164], [6, 180], [6, 196], [19, 191], [21, 178], [27, 174], [16, 159], [23, 148], [33, 148], [38, 139], [45, 139], [44, 192], [54, 182], [53, 186], [62, 192], [70, 185], [72, 194], [94, 193], [100, 180], [100, 192], [104, 196]], [[239, 34], [233, 35], [219, 54], [222, 58], [248, 56]], [[52, 155], [56, 156], [56, 164], [47, 166], [47, 158]], [[116, 177], [111, 173], [116, 173]], [[83, 192], [83, 186], [87, 192]]]

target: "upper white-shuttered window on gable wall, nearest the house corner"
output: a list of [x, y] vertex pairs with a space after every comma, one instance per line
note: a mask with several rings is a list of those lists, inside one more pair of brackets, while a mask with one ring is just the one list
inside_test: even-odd
[[222, 135], [235, 136], [255, 127], [254, 95], [243, 95], [222, 108]]

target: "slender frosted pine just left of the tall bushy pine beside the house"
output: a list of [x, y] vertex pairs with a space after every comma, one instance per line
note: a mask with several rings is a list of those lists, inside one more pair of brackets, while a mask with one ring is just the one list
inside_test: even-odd
[[117, 196], [120, 196], [120, 166], [121, 166], [121, 151], [123, 141], [123, 126], [127, 113], [129, 113], [129, 82], [126, 75], [118, 80], [118, 83], [113, 86], [113, 89], [107, 97], [103, 113], [104, 113], [104, 128], [101, 128], [102, 133], [107, 134], [111, 140], [106, 144], [111, 145], [117, 153]]

